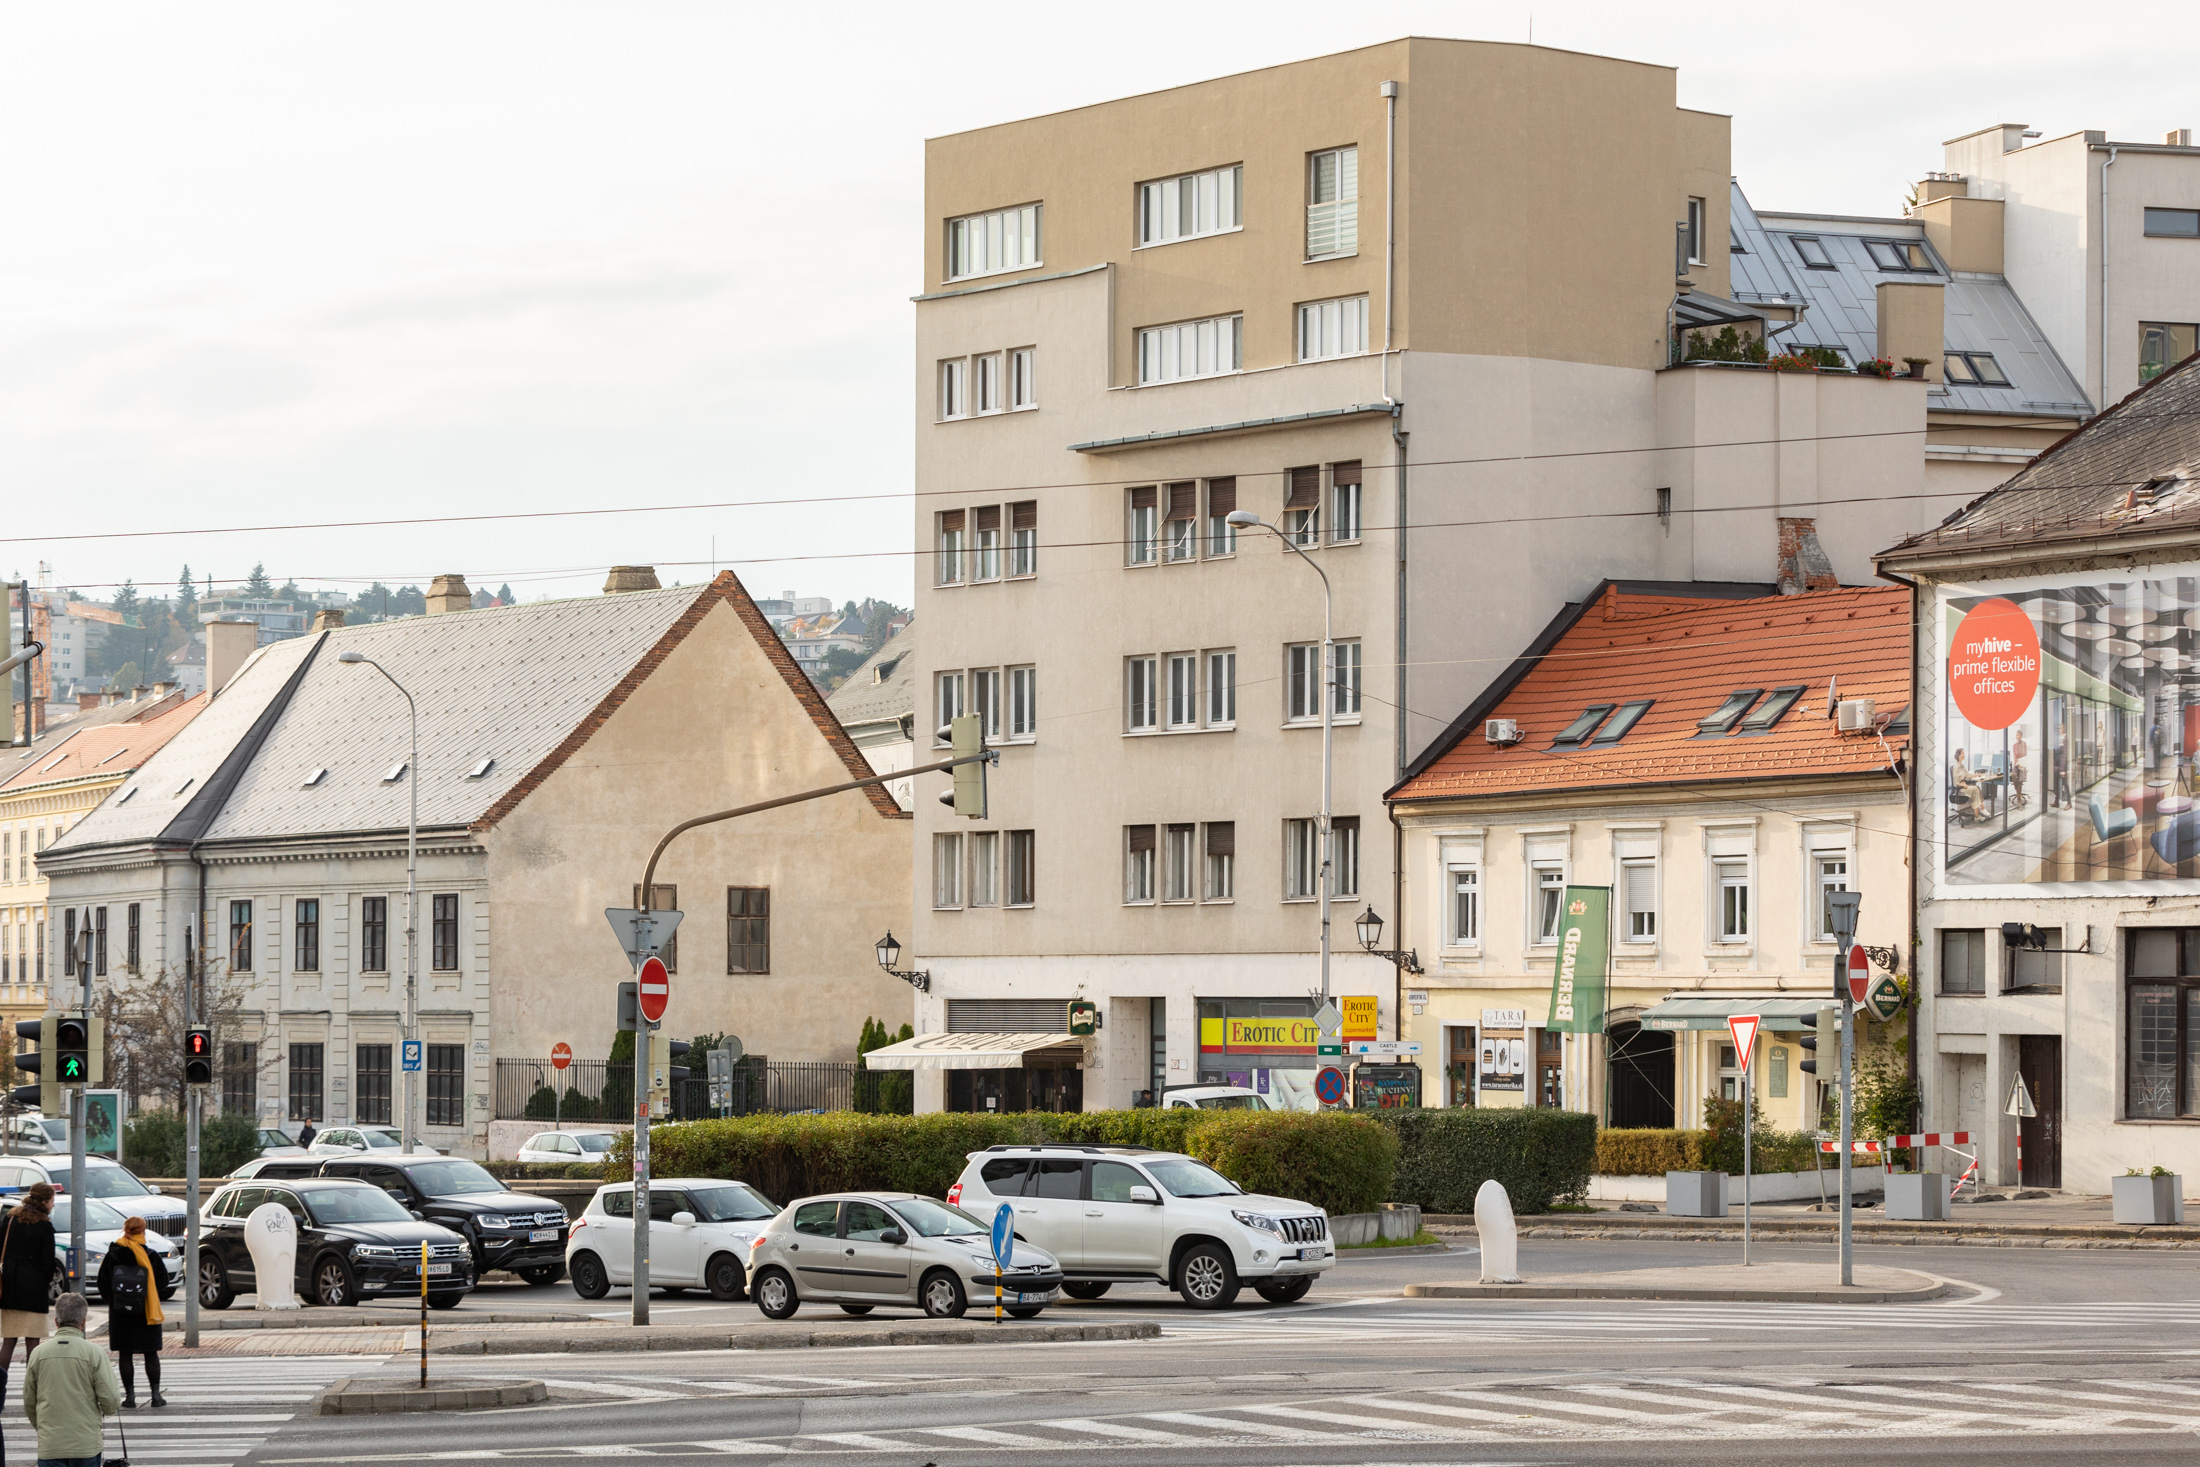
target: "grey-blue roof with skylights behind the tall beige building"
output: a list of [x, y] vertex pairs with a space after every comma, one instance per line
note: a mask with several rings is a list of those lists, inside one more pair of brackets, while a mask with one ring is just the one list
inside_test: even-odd
[[[1795, 235], [1815, 238], [1833, 268], [1808, 268], [1795, 251]], [[1879, 354], [1879, 286], [1945, 286], [1945, 343], [1949, 352], [1991, 352], [2009, 387], [1934, 385], [1927, 407], [1962, 413], [2042, 413], [2081, 418], [2092, 413], [2086, 389], [2070, 376], [2046, 332], [2024, 310], [2024, 301], [2000, 275], [1951, 273], [1912, 220], [1859, 222], [1826, 216], [1760, 216], [1734, 189], [1734, 238], [1747, 253], [1734, 255], [1734, 297], [1769, 301], [1780, 293], [1804, 301], [1802, 323], [1782, 332], [1791, 345], [1839, 348], [1850, 363]], [[1866, 240], [1912, 240], [1925, 244], [1932, 273], [1881, 271]], [[1747, 286], [1745, 286], [1747, 271]]]

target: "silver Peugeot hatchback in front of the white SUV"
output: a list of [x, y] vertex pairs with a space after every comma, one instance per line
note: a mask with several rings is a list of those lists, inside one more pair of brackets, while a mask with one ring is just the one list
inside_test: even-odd
[[[1001, 1273], [1001, 1304], [1030, 1320], [1060, 1298], [1054, 1254], [1021, 1238]], [[988, 1225], [961, 1207], [913, 1192], [836, 1192], [790, 1203], [748, 1245], [748, 1295], [768, 1320], [805, 1302], [867, 1315], [880, 1304], [955, 1320], [990, 1306]]]

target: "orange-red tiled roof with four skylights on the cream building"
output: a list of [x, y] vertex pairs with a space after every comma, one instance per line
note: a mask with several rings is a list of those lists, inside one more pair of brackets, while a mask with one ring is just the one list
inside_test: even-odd
[[[1456, 728], [1452, 746], [1390, 792], [1434, 801], [1610, 785], [1668, 785], [1782, 774], [1866, 774], [1903, 739], [1837, 735], [1826, 684], [1870, 697], [1879, 724], [1910, 702], [1910, 592], [1844, 587], [1749, 600], [1626, 594], [1608, 585], [1478, 717], [1518, 719], [1511, 748]], [[1736, 688], [1802, 684], [1802, 699], [1764, 735], [1698, 737], [1696, 719]], [[1654, 699], [1617, 743], [1551, 748], [1595, 704]], [[1758, 699], [1762, 706], [1764, 699]]]

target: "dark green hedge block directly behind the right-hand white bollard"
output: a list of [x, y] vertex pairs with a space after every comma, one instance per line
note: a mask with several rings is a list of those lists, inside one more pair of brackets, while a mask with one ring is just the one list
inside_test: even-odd
[[1496, 1179], [1514, 1212], [1588, 1194], [1597, 1117], [1582, 1111], [1368, 1111], [1399, 1139], [1390, 1201], [1423, 1212], [1474, 1212], [1474, 1194]]

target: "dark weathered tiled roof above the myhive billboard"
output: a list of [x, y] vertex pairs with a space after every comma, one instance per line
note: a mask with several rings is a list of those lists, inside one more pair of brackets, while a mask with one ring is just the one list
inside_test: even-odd
[[[2160, 482], [2160, 484], [2158, 484]], [[2158, 484], [2152, 495], [2134, 488]], [[2200, 532], [2200, 356], [2154, 378], [1936, 528], [1881, 552], [1918, 554], [2163, 530]]]

